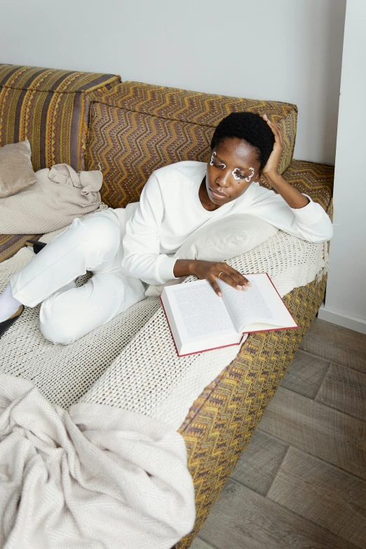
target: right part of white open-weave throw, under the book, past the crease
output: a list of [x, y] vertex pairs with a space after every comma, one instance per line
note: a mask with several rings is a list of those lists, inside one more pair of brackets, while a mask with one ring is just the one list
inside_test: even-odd
[[[327, 272], [327, 243], [313, 244], [278, 231], [228, 264], [240, 273], [269, 273], [283, 297]], [[179, 428], [194, 400], [238, 351], [231, 346], [178, 357], [160, 308], [79, 402], [127, 407]]]

